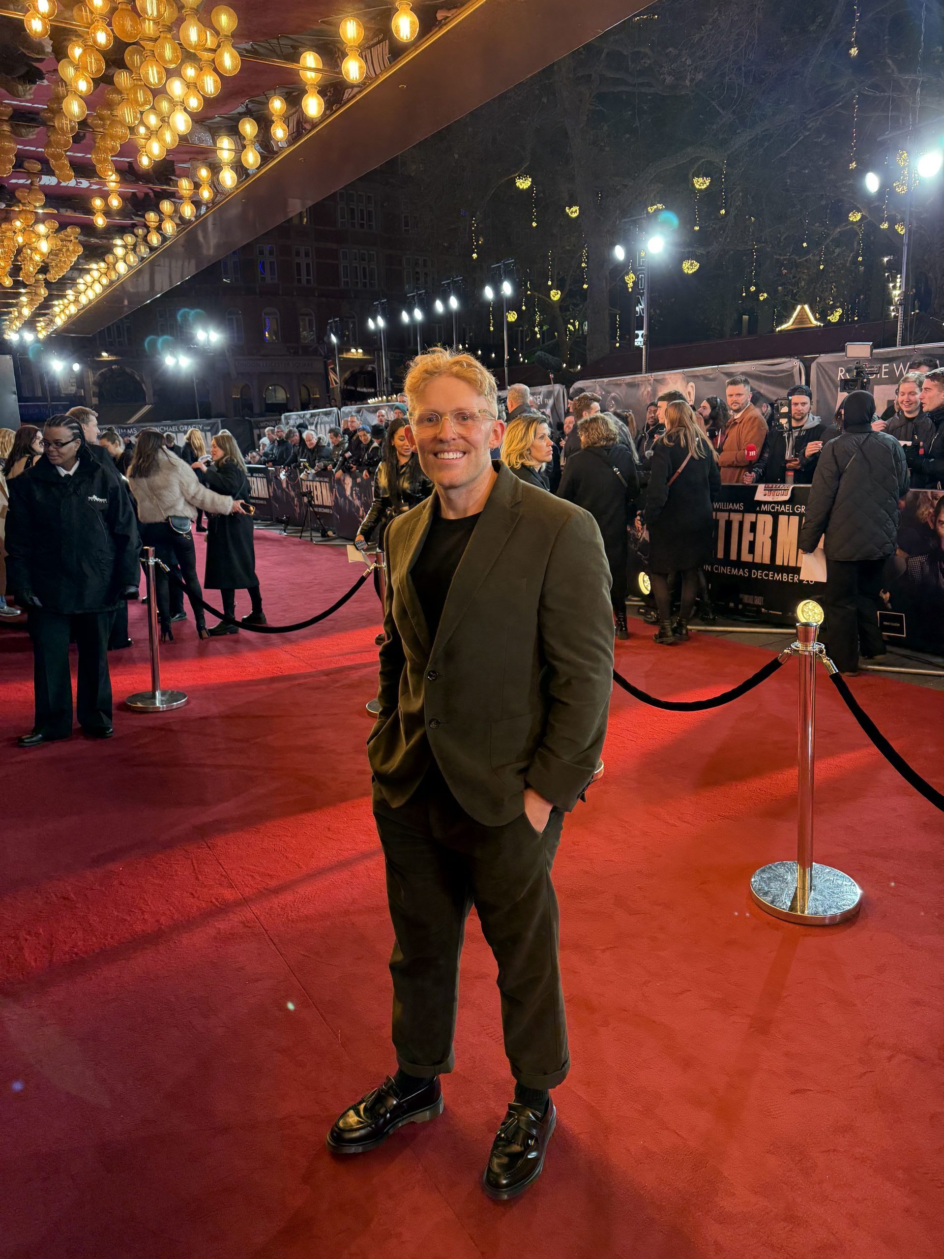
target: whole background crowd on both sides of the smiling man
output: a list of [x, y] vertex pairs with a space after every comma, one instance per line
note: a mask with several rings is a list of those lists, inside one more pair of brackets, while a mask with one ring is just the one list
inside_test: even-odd
[[[860, 655], [885, 650], [876, 613], [904, 496], [909, 486], [944, 486], [944, 369], [916, 361], [881, 415], [870, 394], [856, 392], [828, 419], [813, 413], [806, 385], [794, 385], [773, 408], [748, 376], [735, 375], [724, 398], [707, 397], [695, 409], [678, 390], [666, 390], [647, 405], [642, 422], [629, 410], [603, 412], [599, 395], [580, 393], [563, 422], [553, 424], [527, 387], [515, 384], [491, 456], [526, 485], [594, 517], [619, 640], [628, 638], [631, 539], [637, 548], [644, 543], [655, 599], [649, 618], [661, 646], [688, 640], [696, 609], [704, 621], [715, 619], [705, 578], [712, 494], [721, 485], [809, 485], [801, 546], [812, 551], [824, 539], [827, 633], [837, 665], [852, 674]], [[379, 408], [373, 423], [349, 415], [325, 434], [269, 427], [245, 460], [227, 431], [209, 451], [196, 428], [180, 447], [174, 434], [157, 429], [132, 442], [115, 429], [99, 432], [86, 407], [53, 417], [43, 429], [0, 429], [0, 618], [28, 614], [37, 657], [37, 721], [26, 745], [62, 738], [67, 724], [70, 730], [70, 637], [79, 646], [79, 724], [88, 733], [111, 730], [107, 651], [131, 645], [126, 599], [137, 594], [130, 549], [152, 546], [161, 560], [156, 602], [164, 642], [172, 642], [174, 623], [186, 619], [184, 593], [201, 640], [239, 632], [238, 590], [250, 602], [243, 622], [266, 623], [247, 465], [373, 482], [373, 505], [356, 538], [362, 548], [383, 549], [391, 521], [430, 494], [405, 395]], [[194, 531], [208, 535], [203, 587]], [[88, 555], [81, 554], [81, 540]], [[223, 603], [224, 619], [210, 628], [204, 587], [219, 590]]]

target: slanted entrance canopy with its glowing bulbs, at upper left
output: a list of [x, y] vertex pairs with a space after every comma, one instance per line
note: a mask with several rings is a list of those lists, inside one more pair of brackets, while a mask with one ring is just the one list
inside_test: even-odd
[[96, 332], [644, 8], [340, 4], [0, 0], [4, 335]]

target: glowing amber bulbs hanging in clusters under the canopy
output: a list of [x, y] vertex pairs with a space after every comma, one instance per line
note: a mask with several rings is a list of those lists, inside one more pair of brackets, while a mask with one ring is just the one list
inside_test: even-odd
[[[123, 209], [121, 176], [115, 166], [115, 157], [122, 146], [132, 141], [137, 150], [135, 165], [141, 171], [150, 170], [179, 144], [186, 142], [194, 115], [204, 108], [208, 99], [219, 94], [222, 78], [239, 73], [243, 58], [233, 43], [238, 16], [229, 5], [222, 4], [215, 5], [209, 21], [204, 21], [204, 0], [133, 0], [133, 4], [131, 0], [81, 0], [72, 10], [72, 20], [67, 20], [58, 16], [58, 0], [25, 3], [25, 13], [15, 16], [21, 16], [26, 33], [34, 39], [47, 38], [53, 25], [74, 33], [67, 55], [57, 64], [55, 82], [40, 113], [47, 128], [44, 154], [59, 183], [72, 184], [76, 175], [68, 155], [73, 137], [83, 123], [84, 130], [92, 132], [92, 151], [81, 156], [91, 157], [104, 184], [102, 191], [107, 195], [96, 194], [91, 199], [92, 223], [102, 230], [108, 225], [106, 210], [117, 214]], [[400, 43], [410, 43], [419, 34], [412, 0], [394, 0], [393, 9], [393, 37]], [[9, 11], [6, 15], [14, 16]], [[337, 31], [345, 50], [340, 64], [341, 78], [356, 87], [368, 77], [368, 65], [361, 55], [364, 24], [356, 16], [347, 16], [340, 21]], [[99, 81], [108, 71], [104, 54], [116, 39], [127, 45], [122, 54], [125, 64], [113, 69], [111, 84], [104, 86], [98, 103], [89, 110], [89, 98], [102, 86]], [[267, 60], [248, 54], [247, 59]], [[325, 77], [334, 78], [335, 74], [325, 69], [321, 55], [313, 49], [300, 54], [297, 72], [305, 86], [301, 111], [308, 120], [317, 121], [326, 110], [318, 84]], [[267, 107], [269, 140], [276, 149], [284, 147], [289, 135], [284, 96], [273, 93]], [[10, 113], [8, 106], [0, 106], [0, 178], [9, 176], [16, 161]], [[37, 335], [40, 340], [67, 324], [79, 306], [101, 296], [108, 283], [120, 279], [151, 249], [159, 248], [181, 227], [191, 223], [198, 215], [195, 200], [208, 206], [216, 195], [232, 193], [239, 183], [238, 166], [249, 175], [259, 169], [263, 161], [257, 144], [259, 123], [247, 115], [238, 126], [242, 150], [237, 152], [237, 140], [232, 136], [218, 136], [218, 169], [214, 171], [205, 162], [196, 165], [190, 171], [195, 179], [181, 176], [176, 180], [179, 200], [162, 199], [160, 213], [149, 210], [145, 214], [143, 228], [116, 238], [103, 262], [96, 264], [94, 283], [76, 285], [53, 303], [48, 319], [38, 321]], [[39, 242], [45, 243], [45, 237], [37, 235], [34, 222], [35, 209], [24, 200], [24, 209], [16, 212], [9, 223], [5, 248], [0, 249], [0, 283], [6, 287], [13, 283], [9, 268], [19, 262], [20, 277], [30, 290], [28, 301], [20, 300], [8, 316], [4, 325], [8, 334], [16, 331], [24, 319], [31, 316], [39, 303], [37, 298], [42, 301], [47, 296], [42, 278], [37, 278], [37, 272], [47, 262], [47, 256], [39, 249]], [[29, 239], [24, 233], [29, 234]], [[78, 229], [74, 233], [70, 230], [70, 263], [83, 249], [77, 237]], [[58, 257], [60, 262], [65, 261], [62, 249]], [[38, 286], [42, 286], [42, 293]]]

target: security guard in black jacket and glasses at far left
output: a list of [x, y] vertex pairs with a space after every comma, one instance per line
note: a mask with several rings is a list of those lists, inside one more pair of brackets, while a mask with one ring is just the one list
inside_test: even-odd
[[97, 739], [115, 733], [108, 633], [120, 601], [137, 598], [141, 548], [131, 500], [82, 426], [53, 415], [43, 436], [43, 457], [10, 482], [6, 516], [8, 582], [33, 640], [35, 721], [21, 748], [72, 734], [70, 636], [79, 725]]

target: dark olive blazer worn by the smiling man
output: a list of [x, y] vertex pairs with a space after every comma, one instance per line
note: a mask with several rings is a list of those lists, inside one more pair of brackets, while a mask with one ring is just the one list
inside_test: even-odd
[[525, 786], [571, 810], [590, 782], [613, 686], [609, 568], [589, 512], [505, 465], [456, 570], [435, 641], [410, 578], [435, 494], [386, 533], [380, 715], [368, 738], [394, 807], [432, 750], [462, 808], [502, 826]]

